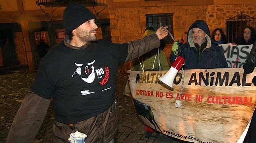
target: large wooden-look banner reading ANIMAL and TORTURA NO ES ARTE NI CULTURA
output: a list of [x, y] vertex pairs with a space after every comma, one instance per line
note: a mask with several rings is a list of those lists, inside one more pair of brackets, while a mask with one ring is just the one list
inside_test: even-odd
[[255, 109], [256, 86], [251, 81], [256, 69], [250, 74], [242, 68], [184, 71], [180, 108], [175, 102], [181, 72], [175, 77], [172, 91], [158, 83], [159, 71], [128, 71], [134, 107], [142, 122], [184, 141], [236, 143]]

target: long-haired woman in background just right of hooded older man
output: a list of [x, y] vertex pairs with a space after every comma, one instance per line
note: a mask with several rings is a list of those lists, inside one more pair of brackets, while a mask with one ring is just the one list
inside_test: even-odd
[[211, 40], [218, 45], [227, 43], [226, 36], [220, 28], [216, 28], [213, 30]]

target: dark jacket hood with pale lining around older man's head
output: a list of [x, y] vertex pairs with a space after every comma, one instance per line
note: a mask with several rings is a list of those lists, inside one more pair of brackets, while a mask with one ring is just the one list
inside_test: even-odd
[[207, 40], [207, 46], [206, 48], [211, 47], [211, 34], [208, 25], [203, 20], [195, 21], [188, 29], [188, 44], [189, 47], [196, 47], [192, 38], [192, 29], [193, 28], [200, 28], [206, 33], [206, 40]]

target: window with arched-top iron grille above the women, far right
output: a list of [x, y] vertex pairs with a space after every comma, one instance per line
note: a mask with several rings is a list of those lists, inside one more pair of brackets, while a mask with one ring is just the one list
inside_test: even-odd
[[228, 43], [233, 43], [236, 38], [242, 37], [243, 29], [246, 26], [256, 28], [256, 19], [245, 14], [226, 19], [226, 34]]

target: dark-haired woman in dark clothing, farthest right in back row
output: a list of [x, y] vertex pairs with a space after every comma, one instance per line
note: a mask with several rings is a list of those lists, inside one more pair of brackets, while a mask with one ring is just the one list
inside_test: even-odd
[[252, 28], [251, 26], [246, 26], [246, 27], [244, 27], [242, 32], [243, 32], [242, 37], [237, 38], [234, 43], [237, 45], [253, 44], [256, 39], [256, 33], [255, 33], [254, 28]]

